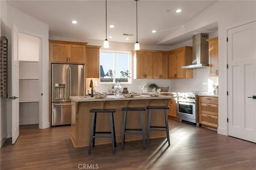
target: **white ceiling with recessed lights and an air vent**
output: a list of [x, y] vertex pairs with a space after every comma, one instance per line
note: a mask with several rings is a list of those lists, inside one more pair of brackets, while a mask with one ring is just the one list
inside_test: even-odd
[[[218, 30], [208, 25], [174, 39], [167, 39], [173, 31], [190, 21], [216, 0], [139, 0], [138, 42], [148, 45], [174, 45], [192, 39], [196, 33]], [[106, 2], [103, 0], [8, 0], [18, 10], [49, 25], [49, 36], [94, 39], [106, 38]], [[176, 13], [180, 8], [182, 12]], [[168, 11], [169, 10], [169, 11]], [[76, 20], [77, 24], [70, 21]], [[107, 0], [108, 41], [136, 42], [136, 1]], [[152, 33], [152, 30], [157, 30]], [[134, 34], [132, 37], [123, 33]], [[109, 38], [112, 36], [112, 38]], [[129, 38], [126, 40], [126, 38]]]

